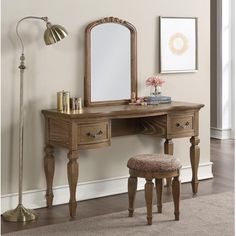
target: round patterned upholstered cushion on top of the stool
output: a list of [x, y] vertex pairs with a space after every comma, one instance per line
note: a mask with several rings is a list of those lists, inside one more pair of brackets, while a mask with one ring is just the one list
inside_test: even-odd
[[139, 154], [129, 159], [127, 167], [144, 172], [171, 172], [182, 167], [180, 161], [167, 154]]

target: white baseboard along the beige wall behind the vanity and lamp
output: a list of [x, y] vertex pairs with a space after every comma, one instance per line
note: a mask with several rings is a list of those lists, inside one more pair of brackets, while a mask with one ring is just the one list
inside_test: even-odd
[[[199, 165], [199, 180], [213, 178], [212, 162]], [[181, 182], [189, 182], [192, 178], [192, 170], [190, 166], [183, 167], [181, 170]], [[128, 176], [103, 179], [77, 185], [76, 199], [78, 201], [92, 198], [104, 197], [108, 195], [120, 194], [127, 192]], [[138, 190], [144, 188], [145, 180], [138, 180]], [[191, 191], [191, 190], [189, 190]], [[59, 186], [53, 188], [54, 199], [53, 205], [65, 204], [69, 201], [69, 186]], [[17, 206], [18, 194], [6, 194], [1, 196], [1, 213], [6, 210], [13, 209]], [[33, 190], [23, 192], [23, 205], [26, 208], [36, 209], [46, 206], [45, 190]]]

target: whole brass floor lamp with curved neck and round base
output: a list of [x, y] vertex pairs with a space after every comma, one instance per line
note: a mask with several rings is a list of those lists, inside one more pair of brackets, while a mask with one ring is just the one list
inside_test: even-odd
[[26, 19], [43, 20], [46, 23], [47, 29], [44, 32], [44, 41], [46, 45], [50, 45], [60, 41], [67, 36], [67, 31], [60, 25], [52, 25], [48, 21], [48, 17], [27, 16], [18, 21], [16, 25], [16, 35], [21, 43], [21, 57], [20, 57], [20, 121], [19, 121], [19, 193], [18, 193], [18, 206], [3, 213], [3, 219], [12, 222], [25, 222], [36, 220], [37, 215], [33, 210], [27, 209], [22, 204], [22, 184], [23, 184], [23, 130], [24, 130], [24, 71], [25, 55], [24, 44], [19, 34], [19, 25]]

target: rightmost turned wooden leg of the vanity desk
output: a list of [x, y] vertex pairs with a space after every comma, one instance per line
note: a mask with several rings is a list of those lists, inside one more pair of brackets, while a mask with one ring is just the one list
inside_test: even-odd
[[192, 190], [193, 193], [196, 194], [198, 191], [198, 165], [200, 159], [200, 148], [198, 144], [200, 143], [200, 139], [196, 136], [191, 137], [190, 143], [192, 144], [190, 147], [190, 161], [192, 166]]

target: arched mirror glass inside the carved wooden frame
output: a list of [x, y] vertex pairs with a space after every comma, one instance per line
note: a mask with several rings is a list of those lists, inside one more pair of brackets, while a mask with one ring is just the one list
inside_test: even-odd
[[106, 23], [91, 32], [91, 102], [129, 99], [130, 31]]

